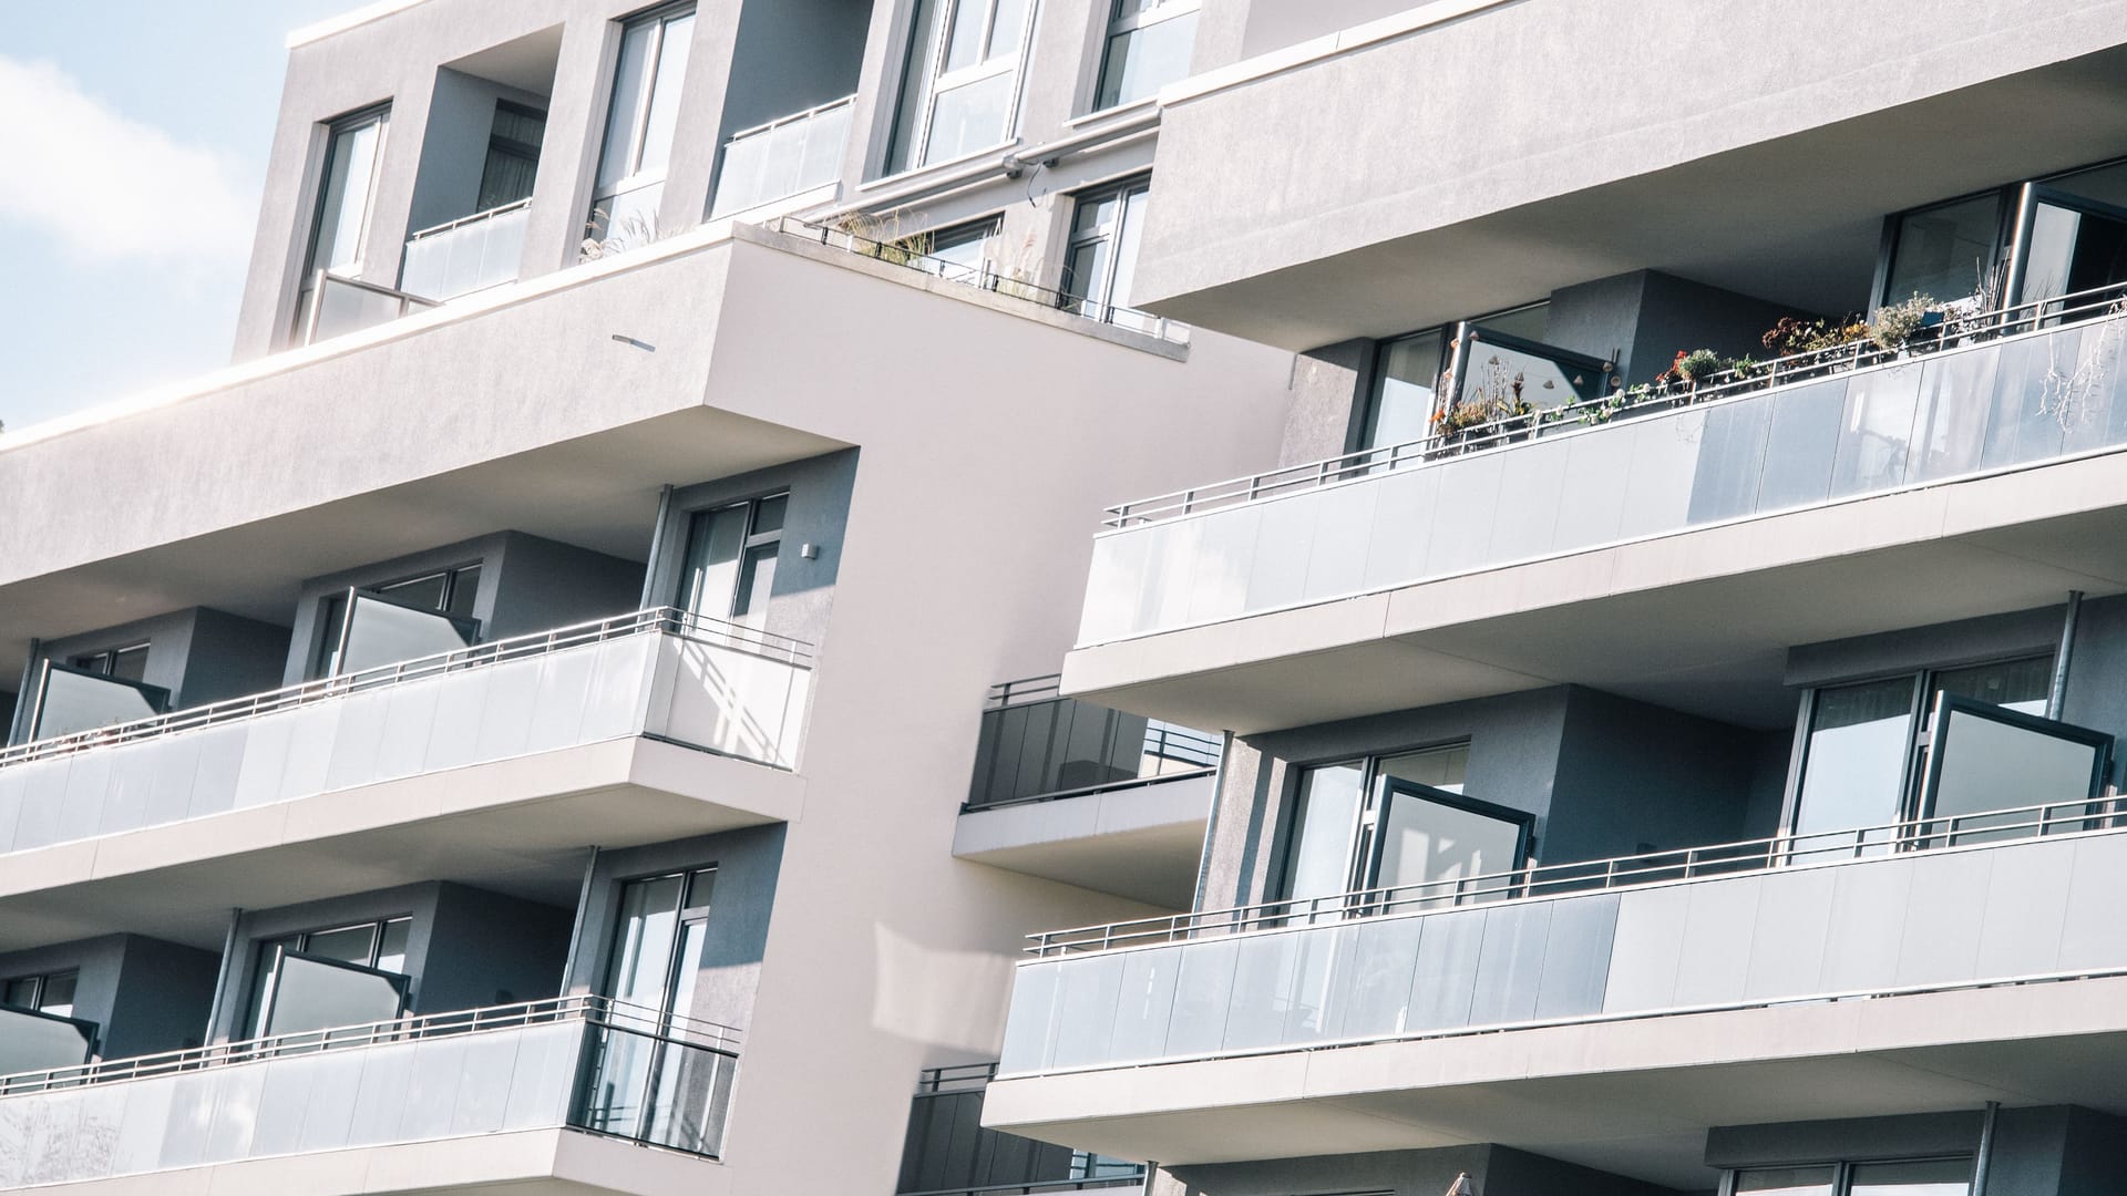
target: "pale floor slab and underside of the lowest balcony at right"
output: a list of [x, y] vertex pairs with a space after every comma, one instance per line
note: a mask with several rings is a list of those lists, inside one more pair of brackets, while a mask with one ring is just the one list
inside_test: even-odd
[[2127, 1113], [2127, 977], [1000, 1079], [983, 1124], [1163, 1164], [1500, 1143], [1708, 1187], [1710, 1126]]

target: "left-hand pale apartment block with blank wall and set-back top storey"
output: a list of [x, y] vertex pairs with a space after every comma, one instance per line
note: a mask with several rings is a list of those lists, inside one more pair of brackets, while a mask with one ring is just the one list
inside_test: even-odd
[[234, 364], [0, 438], [0, 1187], [1142, 1183], [978, 1113], [1025, 936], [1208, 824], [1215, 736], [1023, 681], [1089, 513], [1285, 421], [1129, 302], [1191, 9], [298, 32]]

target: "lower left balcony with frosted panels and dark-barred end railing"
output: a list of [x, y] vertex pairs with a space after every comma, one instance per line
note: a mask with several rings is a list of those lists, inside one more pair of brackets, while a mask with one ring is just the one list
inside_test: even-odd
[[[664, 1190], [644, 1166], [700, 1185], [685, 1156], [721, 1153], [736, 1068], [727, 1026], [574, 996], [19, 1073], [0, 1187], [215, 1168], [283, 1192]], [[570, 1132], [674, 1153], [570, 1175]], [[445, 1145], [470, 1139], [487, 1149]]]

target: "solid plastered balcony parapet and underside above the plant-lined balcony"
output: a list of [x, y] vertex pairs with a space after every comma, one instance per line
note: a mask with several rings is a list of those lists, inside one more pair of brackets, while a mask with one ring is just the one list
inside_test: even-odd
[[[1836, 296], [1868, 287], [1885, 213], [2121, 145], [2127, 51], [2072, 0], [2025, 4], [2021, 23], [1942, 13], [1927, 30], [1857, 13], [1838, 45], [1742, 0], [1287, 9], [1244, 17], [1249, 60], [1163, 94], [1159, 192], [1191, 202], [1151, 206], [1132, 294], [1293, 351], [1653, 262], [1846, 311], [1855, 298]], [[1636, 62], [1682, 11], [1699, 53], [1663, 64], [1663, 87], [1589, 68]], [[1791, 102], [1759, 106], [1770, 94]], [[1940, 130], [1965, 151], [1914, 153]], [[1234, 170], [1257, 155], [1283, 168]], [[1263, 228], [1278, 236], [1251, 236]]]

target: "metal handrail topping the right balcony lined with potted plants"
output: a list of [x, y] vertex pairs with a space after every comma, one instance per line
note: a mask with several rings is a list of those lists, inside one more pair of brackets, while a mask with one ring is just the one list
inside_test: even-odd
[[1861, 340], [1833, 345], [1829, 349], [1757, 362], [1748, 370], [1721, 370], [1708, 379], [1693, 379], [1682, 385], [1651, 387], [1644, 392], [1640, 387], [1631, 387], [1600, 400], [1570, 402], [1555, 409], [1531, 411], [1527, 415], [1474, 423], [1455, 432], [1436, 432], [1400, 445], [1359, 449], [1336, 458], [1323, 458], [1319, 462], [1285, 466], [1189, 489], [1174, 489], [1134, 502], [1121, 502], [1104, 511], [1106, 517], [1102, 519], [1102, 526], [1134, 528], [1161, 519], [1178, 519], [1198, 511], [1217, 511], [1263, 498], [1302, 494], [1444, 455], [1468, 455], [1510, 447], [1553, 426], [1600, 426], [1634, 413], [1695, 406], [1723, 398], [1759, 394], [1774, 387], [1802, 385], [1833, 375], [1897, 366], [1906, 360], [1906, 355], [1965, 349], [2008, 336], [2044, 332], [2057, 323], [2070, 323], [2097, 315], [2127, 315], [2127, 283], [2091, 287], [2057, 298], [2025, 300], [1984, 313], [1959, 313], [1955, 306], [1944, 306], [1944, 319], [1938, 326], [1914, 334], [1914, 338], [1899, 349], [1885, 349], [1863, 336]]

